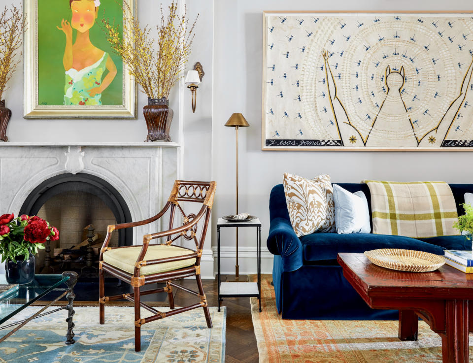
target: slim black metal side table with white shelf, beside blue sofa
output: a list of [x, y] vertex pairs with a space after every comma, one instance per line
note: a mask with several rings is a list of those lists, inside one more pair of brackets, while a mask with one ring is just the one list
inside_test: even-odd
[[[258, 282], [220, 282], [220, 228], [224, 227], [256, 227], [256, 255]], [[248, 222], [228, 222], [223, 218], [217, 221], [217, 288], [218, 311], [222, 297], [258, 297], [261, 313], [261, 222], [255, 218]]]

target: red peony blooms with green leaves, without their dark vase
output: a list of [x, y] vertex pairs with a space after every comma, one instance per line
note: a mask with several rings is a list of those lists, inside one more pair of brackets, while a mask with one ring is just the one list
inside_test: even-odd
[[0, 216], [1, 262], [17, 261], [21, 257], [26, 261], [30, 253], [35, 255], [38, 249], [43, 249], [48, 239], [58, 240], [59, 231], [42, 218], [26, 214], [15, 218], [13, 213]]

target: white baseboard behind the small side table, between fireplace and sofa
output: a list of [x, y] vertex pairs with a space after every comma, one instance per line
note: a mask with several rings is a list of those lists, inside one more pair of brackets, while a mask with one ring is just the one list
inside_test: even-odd
[[[217, 274], [217, 247], [212, 247], [214, 274]], [[235, 246], [220, 247], [220, 273], [235, 274]], [[262, 247], [261, 251], [261, 273], [272, 273], [273, 254]], [[238, 247], [238, 266], [239, 273], [249, 274], [256, 273], [256, 247]]]

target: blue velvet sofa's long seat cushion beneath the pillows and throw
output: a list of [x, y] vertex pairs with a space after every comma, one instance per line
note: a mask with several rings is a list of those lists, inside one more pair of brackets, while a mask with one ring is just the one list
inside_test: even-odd
[[378, 248], [402, 248], [443, 256], [443, 248], [415, 238], [372, 233], [312, 233], [301, 237], [304, 262], [336, 260], [340, 252], [363, 253]]

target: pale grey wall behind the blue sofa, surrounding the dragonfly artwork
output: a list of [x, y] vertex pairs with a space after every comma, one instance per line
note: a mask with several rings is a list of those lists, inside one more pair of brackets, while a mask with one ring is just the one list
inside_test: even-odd
[[[365, 178], [473, 181], [473, 153], [469, 152], [261, 151], [263, 10], [472, 10], [472, 1], [216, 1], [213, 176], [218, 198], [214, 219], [235, 209], [235, 130], [223, 126], [233, 112], [243, 113], [251, 125], [239, 131], [239, 211], [260, 217], [263, 243], [269, 231], [270, 190], [282, 182], [286, 171], [305, 177], [327, 173], [334, 182]], [[222, 238], [223, 245], [234, 244], [233, 232]], [[241, 230], [239, 239], [243, 246], [254, 245], [252, 231]]]

